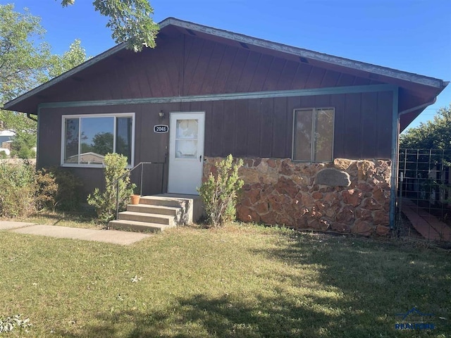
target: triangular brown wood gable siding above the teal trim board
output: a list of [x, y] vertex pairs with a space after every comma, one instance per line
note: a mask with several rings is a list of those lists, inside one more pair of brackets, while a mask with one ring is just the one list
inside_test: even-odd
[[49, 101], [111, 100], [261, 92], [380, 83], [301, 61], [199, 37], [161, 39], [142, 53], [121, 51], [78, 80], [49, 89]]

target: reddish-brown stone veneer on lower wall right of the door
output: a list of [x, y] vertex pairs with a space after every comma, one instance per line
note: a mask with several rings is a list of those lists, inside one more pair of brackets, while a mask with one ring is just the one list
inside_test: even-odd
[[[206, 158], [204, 180], [221, 160]], [[237, 205], [242, 221], [364, 236], [390, 230], [390, 161], [243, 161], [240, 176], [245, 185]]]

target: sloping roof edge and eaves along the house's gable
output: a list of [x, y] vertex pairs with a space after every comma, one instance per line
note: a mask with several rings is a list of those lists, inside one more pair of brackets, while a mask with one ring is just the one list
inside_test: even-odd
[[[277, 42], [271, 42], [264, 39], [258, 39], [256, 37], [249, 37], [247, 35], [229, 32], [227, 30], [199, 25], [197, 23], [190, 23], [176, 18], [166, 18], [159, 23], [159, 26], [159, 36], [166, 35], [166, 33], [171, 29], [176, 29], [186, 35], [197, 35], [205, 39], [216, 39], [227, 41], [229, 43], [235, 42], [236, 44], [240, 44], [243, 48], [265, 51], [266, 53], [272, 52], [284, 54], [285, 56], [290, 57], [295, 56], [301, 62], [307, 62], [320, 67], [353, 73], [354, 75], [364, 75], [365, 77], [370, 77], [384, 83], [395, 84], [400, 87], [400, 111], [407, 109], [412, 110], [412, 107], [432, 102], [448, 84], [448, 82], [434, 77], [408, 73], [402, 70], [395, 70], [393, 68], [373, 65], [371, 63], [354, 61], [348, 58], [341, 58], [339, 56], [331, 56], [295, 46], [288, 46], [286, 44], [279, 44]], [[82, 70], [96, 65], [99, 61], [103, 61], [106, 58], [115, 56], [118, 52], [125, 49], [125, 47], [125, 44], [118, 44], [117, 46], [114, 46], [104, 53], [89, 59], [81, 65], [78, 65], [78, 67], [75, 67], [62, 75], [49, 80], [49, 82], [41, 84], [39, 87], [30, 90], [30, 92], [7, 102], [4, 105], [4, 109], [22, 111], [24, 113], [36, 113], [37, 104], [45, 102], [44, 96], [39, 98], [39, 95], [44, 92], [45, 89], [55, 86], [59, 82], [68, 79], [68, 77], [72, 77], [75, 80], [75, 76]], [[404, 120], [402, 125], [404, 125], [404, 127], [408, 125], [408, 123], [416, 118], [416, 116], [419, 115], [424, 108], [426, 108], [426, 106], [404, 114], [402, 116], [402, 120]], [[402, 129], [404, 129], [403, 126]]]

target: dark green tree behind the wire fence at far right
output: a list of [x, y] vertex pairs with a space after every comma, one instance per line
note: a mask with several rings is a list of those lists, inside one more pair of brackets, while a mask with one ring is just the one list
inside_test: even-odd
[[401, 134], [400, 148], [451, 149], [451, 104], [440, 108], [432, 121]]

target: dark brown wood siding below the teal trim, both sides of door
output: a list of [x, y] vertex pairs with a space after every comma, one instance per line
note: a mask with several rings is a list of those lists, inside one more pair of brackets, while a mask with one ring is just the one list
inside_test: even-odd
[[[392, 93], [337, 94], [266, 99], [205, 101], [130, 106], [42, 108], [39, 115], [37, 166], [58, 166], [62, 115], [135, 113], [135, 164], [167, 162], [169, 134], [156, 134], [159, 111], [205, 112], [205, 156], [290, 158], [296, 108], [335, 108], [334, 158], [390, 158]], [[85, 182], [86, 192], [103, 187], [101, 168], [70, 168]], [[134, 178], [139, 176], [135, 172]], [[168, 163], [146, 165], [143, 193], [166, 192]], [[135, 181], [137, 182], [137, 181]]]

